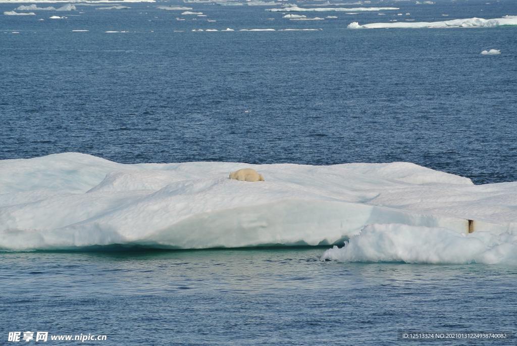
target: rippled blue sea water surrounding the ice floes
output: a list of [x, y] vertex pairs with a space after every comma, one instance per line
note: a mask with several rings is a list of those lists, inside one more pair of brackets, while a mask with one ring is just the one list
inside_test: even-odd
[[[324, 21], [165, 2], [1, 16], [0, 159], [410, 161], [478, 184], [517, 180], [517, 28], [346, 28], [517, 15], [513, 0], [435, 2], [303, 13], [339, 17]], [[178, 4], [208, 17], [156, 8]], [[226, 27], [236, 31], [192, 32]], [[480, 55], [491, 48], [502, 53]], [[515, 267], [328, 263], [324, 250], [2, 252], [0, 340], [48, 330], [108, 335], [92, 345], [515, 344], [397, 338], [514, 333]]]

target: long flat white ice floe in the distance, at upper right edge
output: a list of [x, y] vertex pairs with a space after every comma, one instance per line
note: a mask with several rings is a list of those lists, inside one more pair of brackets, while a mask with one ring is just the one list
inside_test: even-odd
[[412, 22], [412, 23], [371, 23], [359, 25], [358, 22], [353, 22], [348, 25], [350, 29], [361, 28], [440, 28], [440, 27], [496, 27], [505, 25], [517, 25], [516, 16], [505, 16], [496, 19], [483, 18], [468, 18], [468, 19], [454, 19], [441, 22]]

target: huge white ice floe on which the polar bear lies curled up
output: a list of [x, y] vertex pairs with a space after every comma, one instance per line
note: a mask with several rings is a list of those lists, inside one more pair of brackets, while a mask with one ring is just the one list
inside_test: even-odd
[[[265, 182], [229, 179], [241, 168]], [[324, 258], [515, 263], [517, 182], [474, 185], [404, 162], [121, 164], [79, 153], [0, 161], [3, 250], [345, 240]]]

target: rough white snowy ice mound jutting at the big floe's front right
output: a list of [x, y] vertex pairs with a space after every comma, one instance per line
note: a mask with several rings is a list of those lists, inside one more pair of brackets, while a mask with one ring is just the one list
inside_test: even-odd
[[517, 232], [461, 234], [445, 228], [373, 224], [323, 259], [341, 262], [486, 263], [517, 265]]

